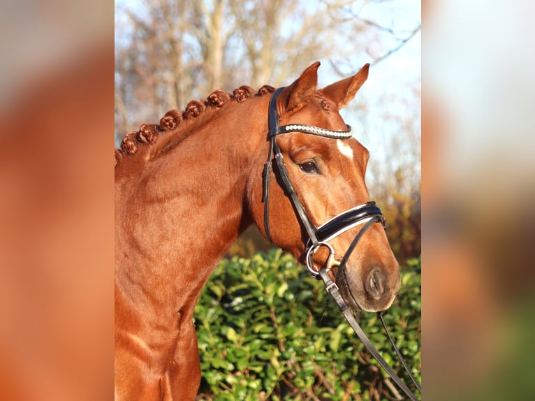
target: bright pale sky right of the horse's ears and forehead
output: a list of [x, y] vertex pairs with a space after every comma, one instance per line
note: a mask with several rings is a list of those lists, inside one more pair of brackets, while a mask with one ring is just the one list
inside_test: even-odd
[[[354, 3], [356, 7], [362, 1]], [[397, 33], [398, 38], [403, 39], [409, 37], [413, 29], [421, 24], [421, 5], [420, 1], [416, 0], [379, 3], [369, 1], [362, 7], [359, 15], [364, 19], [380, 24], [382, 27], [392, 29]], [[420, 150], [419, 124], [418, 132], [414, 133], [413, 136], [407, 136], [407, 139], [418, 140], [418, 143], [403, 143], [403, 139], [400, 139], [404, 153], [398, 153], [393, 158], [390, 147], [393, 143], [393, 136], [400, 135], [400, 128], [395, 124], [386, 122], [384, 115], [389, 113], [400, 116], [400, 118], [414, 117], [419, 123], [420, 97], [416, 98], [413, 91], [415, 89], [418, 89], [418, 92], [421, 90], [421, 31], [418, 31], [400, 50], [374, 64], [372, 56], [380, 57], [386, 54], [389, 49], [396, 48], [400, 44], [400, 41], [393, 40], [390, 34], [376, 32], [378, 32], [380, 42], [370, 41], [368, 51], [371, 55], [366, 52], [356, 54], [352, 59], [356, 64], [354, 65], [355, 69], [349, 71], [351, 74], [356, 73], [365, 63], [371, 64], [368, 79], [353, 101], [362, 101], [369, 106], [366, 110], [365, 122], [360, 121], [362, 115], [353, 112], [351, 108], [342, 109], [340, 114], [347, 124], [356, 129], [356, 138], [369, 150], [370, 163], [376, 163], [379, 165], [379, 169], [381, 169], [381, 165], [389, 163], [388, 171], [395, 170], [396, 164], [410, 163], [415, 166], [415, 172], [420, 174], [419, 153], [416, 157], [411, 154], [414, 148]], [[381, 48], [380, 45], [383, 43], [387, 43], [389, 46]], [[348, 75], [350, 75], [349, 73]], [[323, 83], [339, 79], [339, 75], [330, 71], [330, 67], [325, 65], [322, 65], [320, 75], [320, 81]], [[365, 131], [360, 131], [359, 126], [365, 128]], [[367, 173], [368, 184], [372, 183], [371, 190], [373, 180], [384, 179], [384, 177], [373, 177], [372, 170], [369, 168]]]

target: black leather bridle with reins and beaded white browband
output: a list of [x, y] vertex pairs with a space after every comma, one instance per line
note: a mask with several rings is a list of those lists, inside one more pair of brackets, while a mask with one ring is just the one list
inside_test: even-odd
[[[305, 211], [305, 207], [302, 206], [298, 199], [295, 189], [293, 188], [293, 185], [290, 181], [290, 177], [288, 177], [288, 171], [286, 170], [286, 165], [284, 164], [284, 157], [281, 154], [281, 150], [279, 149], [276, 140], [278, 135], [282, 133], [291, 132], [310, 133], [312, 135], [323, 136], [325, 138], [348, 139], [353, 136], [353, 130], [349, 125], [347, 126], [347, 129], [345, 131], [331, 131], [328, 129], [319, 128], [317, 126], [309, 126], [304, 124], [289, 124], [285, 126], [279, 126], [279, 115], [277, 114], [277, 97], [279, 96], [279, 94], [281, 94], [283, 90], [284, 87], [281, 87], [277, 89], [274, 94], [272, 94], [269, 107], [270, 151], [268, 154], [268, 161], [265, 163], [265, 167], [263, 170], [262, 194], [262, 201], [264, 202], [264, 225], [266, 236], [268, 240], [272, 242], [269, 225], [269, 199], [272, 160], [274, 159], [275, 163], [277, 164], [279, 177], [282, 183], [284, 184], [284, 190], [289, 196], [295, 213], [297, 214], [300, 223], [305, 228], [305, 231], [307, 231], [307, 235], [309, 237], [306, 247], [306, 262], [310, 275], [312, 275], [312, 277], [314, 277], [315, 279], [323, 279], [323, 282], [325, 283], [325, 289], [327, 289], [332, 299], [335, 300], [339, 309], [342, 311], [342, 314], [344, 314], [346, 321], [349, 323], [351, 328], [353, 328], [362, 343], [365, 344], [365, 347], [369, 350], [370, 353], [372, 353], [374, 358], [379, 362], [379, 364], [384, 368], [384, 370], [386, 370], [390, 377], [392, 377], [393, 381], [395, 381], [395, 383], [400, 386], [404, 393], [406, 393], [406, 395], [408, 395], [411, 400], [418, 401], [416, 395], [414, 395], [409, 389], [409, 387], [407, 387], [406, 384], [404, 384], [404, 382], [400, 379], [400, 377], [395, 374], [395, 372], [388, 365], [388, 363], [386, 363], [386, 360], [383, 359], [379, 351], [377, 351], [374, 345], [369, 341], [368, 337], [366, 336], [364, 331], [362, 331], [362, 328], [360, 328], [358, 322], [356, 321], [356, 318], [353, 315], [351, 308], [342, 298], [342, 294], [340, 293], [337, 284], [332, 281], [328, 274], [329, 270], [333, 266], [338, 266], [340, 270], [343, 270], [345, 268], [345, 265], [349, 260], [349, 257], [353, 253], [354, 249], [356, 248], [357, 243], [360, 241], [360, 238], [362, 238], [362, 235], [364, 235], [365, 232], [374, 223], [381, 223], [383, 225], [383, 228], [386, 227], [385, 219], [383, 217], [381, 209], [376, 205], [375, 202], [368, 202], [364, 205], [359, 205], [353, 207], [350, 210], [346, 210], [346, 212], [342, 212], [336, 217], [330, 219], [329, 221], [326, 221], [324, 224], [321, 224], [321, 226], [316, 227], [312, 223], [312, 221], [310, 221], [307, 212]], [[344, 257], [342, 258], [342, 261], [336, 261], [334, 248], [332, 247], [332, 245], [330, 245], [329, 241], [337, 237], [338, 235], [350, 230], [351, 228], [354, 228], [361, 224], [363, 224], [362, 228], [360, 228], [359, 233], [351, 242], [351, 245], [347, 249], [346, 254], [344, 254]], [[321, 247], [327, 247], [329, 249], [329, 256], [327, 262], [325, 263], [325, 267], [321, 268], [318, 271], [314, 268], [314, 254]], [[413, 374], [411, 374], [409, 367], [407, 367], [400, 351], [395, 346], [395, 343], [393, 342], [392, 337], [388, 332], [388, 328], [386, 327], [382, 312], [378, 312], [378, 314], [379, 318], [381, 319], [381, 323], [383, 324], [383, 327], [386, 330], [388, 339], [392, 343], [398, 358], [400, 358], [403, 367], [409, 374], [409, 377], [413, 381], [416, 388], [418, 388], [418, 391], [420, 391], [421, 393], [422, 388], [420, 384], [418, 384], [416, 378], [413, 377]]]

